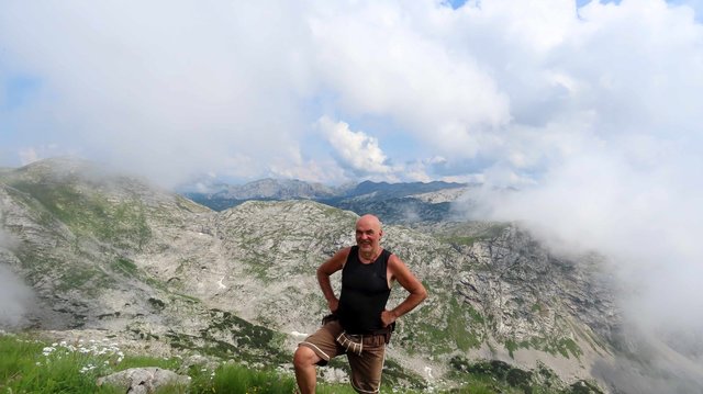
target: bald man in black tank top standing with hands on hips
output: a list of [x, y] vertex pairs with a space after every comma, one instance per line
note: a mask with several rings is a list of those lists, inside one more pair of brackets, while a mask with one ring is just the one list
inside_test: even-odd
[[[334, 319], [298, 345], [293, 357], [301, 394], [315, 392], [315, 365], [326, 365], [347, 354], [352, 385], [358, 393], [378, 393], [386, 344], [395, 320], [412, 311], [427, 291], [395, 255], [379, 245], [383, 230], [373, 215], [356, 222], [356, 246], [337, 251], [317, 268], [317, 282]], [[337, 299], [330, 275], [342, 270], [342, 292]], [[386, 309], [391, 284], [398, 281], [410, 294], [393, 309]]]

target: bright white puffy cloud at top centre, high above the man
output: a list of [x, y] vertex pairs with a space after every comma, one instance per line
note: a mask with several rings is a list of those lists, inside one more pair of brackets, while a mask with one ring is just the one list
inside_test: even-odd
[[443, 41], [455, 19], [432, 2], [325, 9], [310, 23], [317, 74], [345, 112], [388, 116], [423, 144], [472, 156], [475, 133], [510, 120], [509, 100], [475, 54]]

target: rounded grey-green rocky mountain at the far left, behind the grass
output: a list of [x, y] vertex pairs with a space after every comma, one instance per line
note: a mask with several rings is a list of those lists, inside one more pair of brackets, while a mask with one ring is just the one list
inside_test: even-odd
[[36, 293], [25, 326], [69, 338], [109, 335], [154, 353], [198, 348], [259, 360], [265, 349], [267, 359], [288, 359], [274, 346], [280, 335], [157, 275], [192, 254], [208, 257], [209, 243], [199, 243], [212, 217], [204, 206], [62, 159], [2, 175], [0, 217], [0, 263]]

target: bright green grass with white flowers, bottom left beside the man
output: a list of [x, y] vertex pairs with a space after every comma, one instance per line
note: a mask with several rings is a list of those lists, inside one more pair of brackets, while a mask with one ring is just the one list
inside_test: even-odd
[[[176, 371], [182, 360], [124, 354], [108, 341], [53, 342], [26, 335], [0, 334], [0, 393], [124, 393], [123, 389], [97, 385], [97, 379], [130, 368], [158, 367]], [[190, 365], [189, 387], [168, 385], [157, 393], [287, 393], [295, 391], [291, 373], [252, 370], [244, 364], [222, 363], [211, 369]], [[319, 384], [319, 393], [355, 393], [348, 384]], [[383, 392], [390, 393], [390, 387]]]

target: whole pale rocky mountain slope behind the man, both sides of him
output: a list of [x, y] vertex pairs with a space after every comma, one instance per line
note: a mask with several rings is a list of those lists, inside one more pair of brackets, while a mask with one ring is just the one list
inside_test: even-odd
[[[25, 326], [286, 365], [326, 312], [314, 270], [354, 243], [357, 217], [313, 201], [215, 212], [91, 164], [45, 160], [0, 173], [0, 263], [37, 294]], [[450, 384], [479, 359], [572, 382], [612, 359], [618, 318], [598, 258], [553, 256], [511, 224], [384, 230], [429, 291], [391, 342], [391, 382]]]

